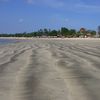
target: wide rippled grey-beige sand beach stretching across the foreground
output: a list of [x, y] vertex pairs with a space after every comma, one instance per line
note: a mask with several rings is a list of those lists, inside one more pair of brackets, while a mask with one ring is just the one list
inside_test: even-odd
[[100, 100], [100, 39], [0, 45], [0, 100]]

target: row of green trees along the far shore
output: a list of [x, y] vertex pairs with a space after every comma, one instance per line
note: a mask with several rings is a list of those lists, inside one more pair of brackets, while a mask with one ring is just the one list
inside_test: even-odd
[[39, 29], [35, 32], [24, 32], [24, 33], [15, 33], [15, 34], [0, 34], [0, 37], [94, 37], [96, 36], [96, 31], [94, 30], [86, 30], [81, 32], [76, 31], [75, 29], [68, 29], [66, 27], [62, 27], [60, 30], [51, 30], [51, 29]]

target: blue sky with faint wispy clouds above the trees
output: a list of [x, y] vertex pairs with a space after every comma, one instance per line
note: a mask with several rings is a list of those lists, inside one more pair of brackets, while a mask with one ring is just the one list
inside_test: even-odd
[[100, 0], [0, 0], [0, 33], [99, 25]]

